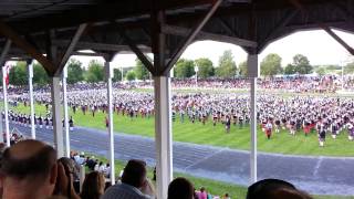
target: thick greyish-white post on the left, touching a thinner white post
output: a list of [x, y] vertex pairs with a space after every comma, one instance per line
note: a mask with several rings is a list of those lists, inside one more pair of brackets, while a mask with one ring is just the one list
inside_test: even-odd
[[64, 136], [62, 124], [62, 107], [60, 97], [60, 76], [52, 77], [51, 84], [51, 97], [52, 97], [52, 116], [53, 116], [53, 133], [54, 145], [58, 154], [58, 158], [64, 157]]

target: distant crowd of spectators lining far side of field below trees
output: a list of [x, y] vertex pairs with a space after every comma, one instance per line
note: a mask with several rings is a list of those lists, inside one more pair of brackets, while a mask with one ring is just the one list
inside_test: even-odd
[[[261, 90], [288, 91], [296, 93], [333, 93], [343, 88], [354, 91], [354, 77], [342, 77], [334, 75], [326, 76], [278, 76], [258, 80], [258, 87]], [[136, 82], [114, 82], [114, 88], [149, 88], [153, 86], [152, 81], [136, 81]], [[174, 88], [235, 88], [247, 90], [250, 88], [250, 81], [244, 77], [238, 78], [173, 78], [171, 86]], [[106, 90], [105, 82], [98, 83], [76, 83], [67, 84], [67, 91], [77, 92], [85, 90]], [[35, 85], [33, 87], [35, 93], [49, 93], [50, 85]], [[9, 94], [27, 93], [28, 86], [12, 86], [8, 88]]]

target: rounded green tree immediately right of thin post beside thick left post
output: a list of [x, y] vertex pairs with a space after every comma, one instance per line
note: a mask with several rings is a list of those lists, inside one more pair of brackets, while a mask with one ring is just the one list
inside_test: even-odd
[[67, 83], [75, 84], [84, 80], [84, 69], [82, 63], [75, 59], [71, 59], [67, 63]]

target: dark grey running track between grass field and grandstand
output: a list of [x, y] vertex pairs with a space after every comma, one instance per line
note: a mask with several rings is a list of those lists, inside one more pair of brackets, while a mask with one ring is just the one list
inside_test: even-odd
[[[14, 125], [11, 124], [10, 127], [12, 129]], [[25, 136], [30, 136], [29, 127], [18, 125], [15, 127]], [[37, 138], [52, 143], [52, 130], [37, 129]], [[149, 166], [155, 165], [154, 139], [126, 134], [116, 134], [114, 139], [116, 159], [137, 158], [144, 159]], [[71, 147], [74, 150], [106, 156], [107, 133], [76, 127], [71, 133]], [[178, 142], [174, 143], [173, 151], [175, 171], [243, 186], [249, 182], [248, 151]], [[287, 156], [259, 153], [258, 177], [259, 179], [285, 179], [314, 195], [354, 196], [353, 157]]]

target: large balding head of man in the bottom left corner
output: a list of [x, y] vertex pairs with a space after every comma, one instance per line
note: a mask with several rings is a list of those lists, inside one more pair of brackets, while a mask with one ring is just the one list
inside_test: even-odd
[[3, 153], [2, 198], [38, 199], [50, 197], [59, 175], [55, 150], [38, 140], [23, 140]]

